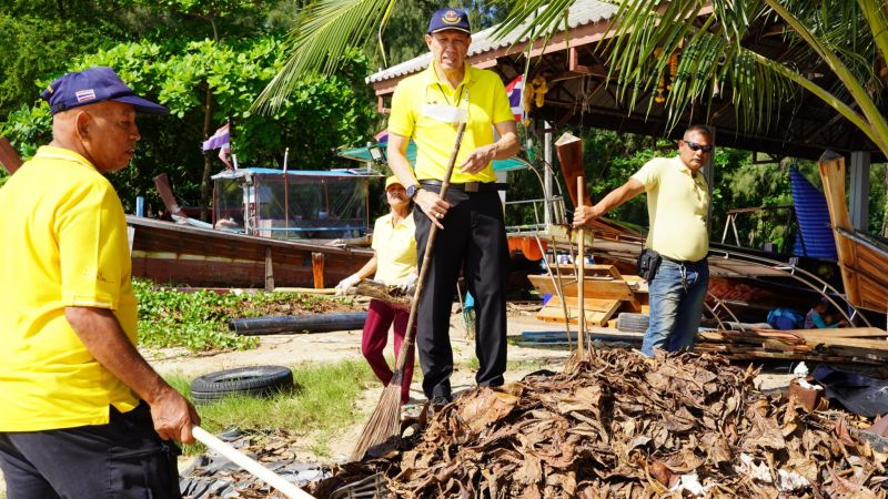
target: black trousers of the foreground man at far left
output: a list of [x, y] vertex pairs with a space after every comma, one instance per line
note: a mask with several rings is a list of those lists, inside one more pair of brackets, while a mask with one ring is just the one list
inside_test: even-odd
[[144, 403], [108, 425], [0, 432], [9, 499], [181, 498], [179, 454]]

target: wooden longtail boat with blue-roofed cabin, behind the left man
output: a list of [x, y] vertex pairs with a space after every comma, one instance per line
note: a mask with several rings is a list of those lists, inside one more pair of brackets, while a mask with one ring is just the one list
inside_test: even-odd
[[213, 176], [212, 223], [189, 217], [165, 175], [173, 222], [128, 216], [133, 276], [194, 287], [332, 286], [372, 256], [372, 171], [226, 170]]

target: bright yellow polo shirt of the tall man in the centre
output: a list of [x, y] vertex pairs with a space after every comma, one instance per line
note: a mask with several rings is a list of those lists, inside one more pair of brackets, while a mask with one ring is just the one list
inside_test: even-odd
[[[454, 89], [437, 78], [433, 62], [425, 71], [405, 78], [397, 84], [392, 95], [389, 132], [412, 138], [416, 142], [414, 169], [417, 180], [444, 180], [456, 141], [456, 126], [424, 115], [423, 108], [426, 104], [457, 103], [467, 110], [468, 122], [456, 156], [456, 166], [475, 149], [494, 142], [494, 124], [515, 120], [503, 81], [492, 71], [466, 63], [465, 77]], [[462, 173], [457, 167], [453, 171], [451, 182], [496, 182], [496, 175], [491, 164], [474, 175]]]

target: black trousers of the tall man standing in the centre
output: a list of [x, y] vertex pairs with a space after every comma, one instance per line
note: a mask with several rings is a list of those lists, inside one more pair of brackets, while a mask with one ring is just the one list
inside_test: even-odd
[[[453, 206], [442, 220], [444, 230], [435, 236], [416, 317], [423, 391], [430, 399], [451, 396], [450, 319], [461, 268], [475, 298], [475, 355], [481, 365], [475, 381], [480, 386], [500, 386], [506, 370], [508, 244], [503, 204], [496, 191], [466, 193], [451, 189], [446, 198]], [[422, 266], [432, 222], [418, 206], [414, 207], [413, 220]]]

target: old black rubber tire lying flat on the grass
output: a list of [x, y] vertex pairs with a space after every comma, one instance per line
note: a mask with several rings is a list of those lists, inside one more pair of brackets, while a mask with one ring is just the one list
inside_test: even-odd
[[293, 373], [282, 366], [253, 366], [210, 373], [191, 381], [194, 401], [232, 395], [268, 396], [293, 389]]

